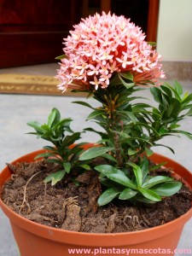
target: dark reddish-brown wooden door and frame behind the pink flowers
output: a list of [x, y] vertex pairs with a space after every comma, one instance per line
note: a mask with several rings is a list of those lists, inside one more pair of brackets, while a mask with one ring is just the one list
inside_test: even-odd
[[55, 61], [81, 17], [125, 15], [156, 41], [159, 0], [0, 0], [0, 67]]

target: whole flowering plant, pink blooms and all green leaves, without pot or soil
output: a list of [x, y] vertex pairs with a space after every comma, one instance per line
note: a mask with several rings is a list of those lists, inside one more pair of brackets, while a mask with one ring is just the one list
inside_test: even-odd
[[[174, 86], [160, 85], [158, 79], [165, 77], [160, 55], [154, 44], [144, 40], [142, 30], [125, 17], [103, 13], [82, 20], [74, 28], [65, 39], [65, 55], [59, 57], [58, 87], [63, 91], [83, 90], [100, 102], [98, 108], [87, 102], [76, 103], [93, 110], [87, 119], [95, 120], [103, 131], [95, 131], [101, 136], [98, 147], [83, 152], [82, 144], [68, 148], [80, 133], [64, 136], [64, 131], [70, 131], [69, 119], [61, 120], [57, 109], [49, 114], [47, 125], [28, 123], [36, 130], [34, 134], [55, 145], [44, 147], [48, 153], [38, 157], [63, 166], [63, 170], [46, 177], [45, 182], [55, 184], [73, 166], [89, 170], [91, 160], [102, 157], [106, 164], [95, 166], [104, 188], [98, 199], [100, 206], [116, 197], [152, 203], [177, 193], [182, 183], [172, 177], [151, 175], [160, 166], [150, 166], [148, 156], [153, 154], [151, 147], [162, 146], [159, 141], [163, 137], [180, 133], [192, 139], [192, 134], [180, 130], [178, 124], [192, 115], [192, 95], [183, 93], [177, 82]], [[146, 87], [150, 87], [157, 107], [137, 96], [137, 90]]]

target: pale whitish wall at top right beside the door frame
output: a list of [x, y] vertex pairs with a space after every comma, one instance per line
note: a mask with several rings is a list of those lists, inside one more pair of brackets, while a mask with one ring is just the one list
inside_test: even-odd
[[163, 61], [192, 61], [192, 0], [160, 0], [157, 51]]

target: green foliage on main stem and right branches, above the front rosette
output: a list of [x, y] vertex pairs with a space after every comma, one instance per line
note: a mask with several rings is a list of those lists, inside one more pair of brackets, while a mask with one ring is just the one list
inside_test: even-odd
[[[122, 83], [122, 79], [125, 83]], [[99, 143], [102, 143], [103, 150], [110, 148], [106, 153], [118, 161], [120, 168], [130, 160], [137, 160], [143, 152], [150, 156], [155, 146], [164, 146], [174, 153], [172, 148], [159, 143], [164, 137], [183, 134], [192, 138], [191, 133], [179, 129], [180, 121], [192, 115], [192, 94], [183, 94], [182, 86], [177, 82], [173, 86], [164, 84], [159, 88], [152, 87], [151, 94], [158, 103], [157, 107], [153, 107], [142, 102], [142, 97], [134, 96], [140, 89], [132, 86], [131, 79], [130, 73], [117, 74], [108, 90], [99, 88], [94, 92], [93, 96], [102, 106], [87, 106], [92, 109], [87, 119], [94, 120], [104, 130], [95, 131], [102, 137]], [[99, 150], [102, 156], [102, 148]], [[85, 152], [84, 155], [90, 154]], [[96, 156], [99, 156], [99, 152]]]

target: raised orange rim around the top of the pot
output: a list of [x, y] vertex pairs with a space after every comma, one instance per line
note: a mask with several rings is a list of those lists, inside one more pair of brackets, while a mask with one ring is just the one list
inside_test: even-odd
[[[32, 153], [25, 154], [25, 155], [21, 156], [20, 158], [12, 161], [12, 163], [14, 164], [16, 162], [23, 161], [24, 158], [29, 158], [29, 160], [27, 160], [27, 162], [32, 162], [34, 155], [40, 154], [44, 151], [46, 151], [46, 150], [40, 149], [40, 150], [33, 151]], [[190, 177], [188, 182], [190, 183], [190, 187], [192, 187], [192, 173], [189, 172], [188, 169], [186, 169], [184, 166], [181, 166], [176, 161], [171, 160], [161, 154], [154, 153], [153, 157], [151, 157], [152, 160], [160, 160], [160, 158], [163, 158], [164, 160], [169, 160], [169, 163], [171, 163], [171, 165], [169, 164], [168, 166], [171, 166], [171, 168], [173, 166], [178, 166], [179, 169], [182, 168], [182, 170], [183, 170], [182, 173], [184, 172], [185, 176]], [[162, 160], [160, 160], [160, 162], [162, 162]], [[9, 172], [8, 166], [6, 166], [3, 169], [3, 171], [0, 172], [0, 192], [2, 191], [3, 183], [5, 180], [7, 180], [7, 178], [9, 177], [9, 174], [10, 174], [10, 172]], [[186, 183], [185, 179], [183, 181], [184, 181], [184, 183]], [[187, 184], [189, 185], [188, 182], [187, 182]], [[183, 225], [189, 220], [189, 218], [192, 217], [192, 208], [190, 208], [188, 212], [185, 212], [179, 218], [176, 218], [176, 219], [172, 220], [171, 222], [168, 222], [166, 224], [162, 224], [162, 225], [159, 225], [159, 226], [156, 226], [153, 228], [149, 228], [146, 230], [131, 231], [131, 232], [102, 234], [102, 233], [86, 233], [86, 232], [78, 232], [78, 231], [70, 231], [70, 230], [61, 230], [61, 229], [56, 229], [53, 227], [46, 226], [44, 224], [35, 223], [29, 219], [26, 219], [26, 218], [20, 216], [18, 213], [12, 211], [7, 205], [4, 204], [1, 197], [0, 197], [0, 207], [2, 207], [3, 212], [9, 218], [13, 218], [12, 220], [10, 219], [10, 221], [13, 221], [14, 224], [20, 226], [20, 228], [23, 230], [27, 230], [27, 231], [31, 232], [32, 234], [38, 234], [38, 236], [48, 238], [52, 241], [62, 242], [65, 240], [69, 244], [75, 243], [77, 245], [84, 244], [83, 243], [84, 239], [82, 241], [82, 237], [84, 237], [84, 236], [86, 236], [87, 239], [93, 238], [95, 241], [99, 241], [101, 245], [102, 245], [102, 243], [104, 243], [104, 241], [106, 241], [107, 239], [110, 239], [109, 243], [115, 243], [116, 246], [122, 245], [122, 242], [123, 242], [123, 241], [116, 240], [117, 237], [124, 239], [124, 241], [126, 241], [126, 243], [127, 243], [127, 240], [129, 240], [129, 239], [135, 239], [135, 243], [138, 243], [138, 242], [147, 241], [148, 240], [147, 234], [148, 234], [148, 232], [151, 232], [153, 234], [153, 235], [151, 235], [151, 236], [153, 236], [153, 239], [156, 239], [160, 236], [165, 236], [166, 234], [172, 233], [175, 230], [183, 229]], [[25, 228], [24, 228], [24, 224], [26, 224]], [[42, 230], [41, 234], [40, 234], [39, 230]], [[75, 236], [75, 239], [74, 239], [74, 236]], [[101, 240], [101, 238], [102, 238], [102, 240]], [[91, 247], [93, 241], [90, 240], [87, 242], [90, 243], [90, 247]], [[132, 242], [131, 242], [131, 244], [132, 244]]]

